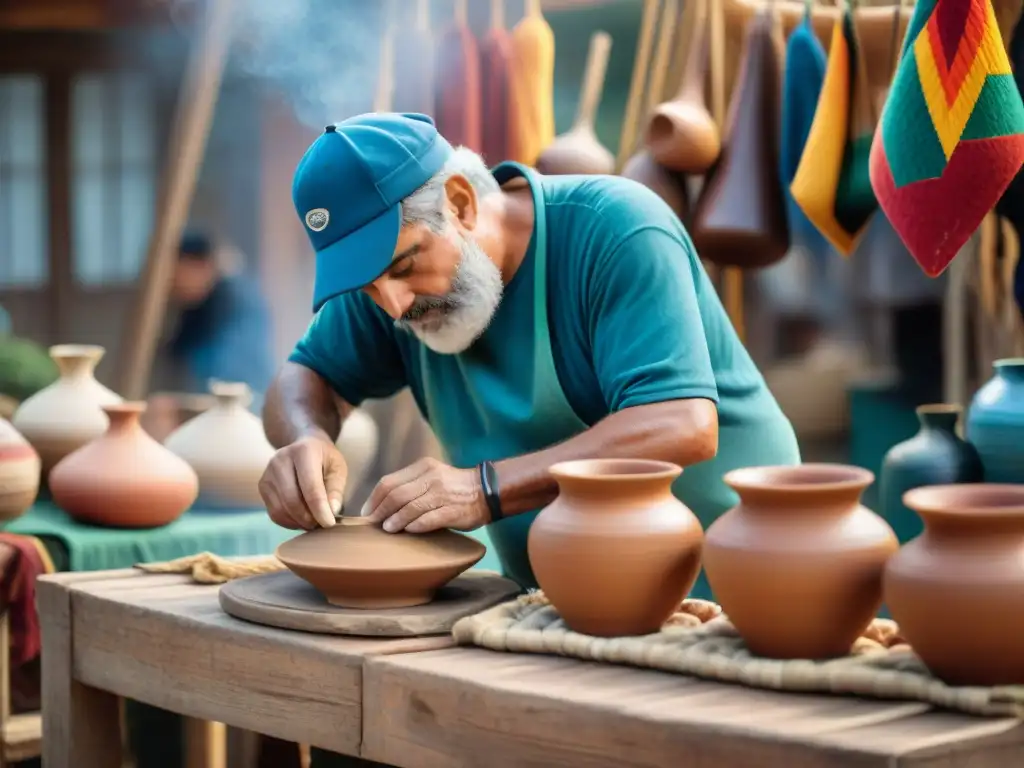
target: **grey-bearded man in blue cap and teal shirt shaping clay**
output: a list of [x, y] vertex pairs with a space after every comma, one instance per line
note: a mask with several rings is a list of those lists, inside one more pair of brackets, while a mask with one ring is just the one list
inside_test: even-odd
[[799, 462], [689, 237], [646, 187], [488, 172], [429, 118], [373, 114], [328, 126], [293, 198], [316, 316], [263, 414], [280, 450], [260, 490], [280, 524], [334, 523], [340, 419], [406, 386], [451, 463], [382, 478], [365, 513], [388, 531], [487, 526], [526, 587], [556, 462], [679, 464], [676, 490], [706, 525], [735, 503], [725, 471]]

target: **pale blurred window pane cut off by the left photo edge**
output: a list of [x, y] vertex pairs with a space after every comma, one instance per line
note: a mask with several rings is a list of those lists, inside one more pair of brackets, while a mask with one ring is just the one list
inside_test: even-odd
[[43, 78], [0, 76], [0, 290], [49, 279]]

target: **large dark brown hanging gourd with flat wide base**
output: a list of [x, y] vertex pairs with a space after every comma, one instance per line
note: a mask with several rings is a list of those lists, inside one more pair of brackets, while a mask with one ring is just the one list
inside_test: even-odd
[[781, 60], [774, 10], [760, 9], [748, 27], [722, 154], [693, 215], [697, 253], [716, 264], [768, 266], [790, 247], [778, 175]]

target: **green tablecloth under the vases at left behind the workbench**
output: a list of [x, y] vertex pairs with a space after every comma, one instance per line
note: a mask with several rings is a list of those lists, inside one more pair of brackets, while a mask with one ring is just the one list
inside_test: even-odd
[[294, 530], [274, 524], [262, 509], [196, 508], [170, 525], [139, 530], [83, 525], [48, 501], [37, 502], [0, 529], [57, 543], [68, 557], [67, 563], [54, 562], [58, 570], [130, 568], [138, 562], [173, 560], [198, 552], [264, 555], [295, 536]]

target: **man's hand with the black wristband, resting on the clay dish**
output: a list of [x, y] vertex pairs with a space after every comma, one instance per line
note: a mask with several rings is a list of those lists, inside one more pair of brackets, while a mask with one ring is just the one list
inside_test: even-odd
[[421, 459], [381, 478], [362, 513], [389, 534], [473, 530], [490, 521], [477, 470], [456, 469], [436, 459]]

